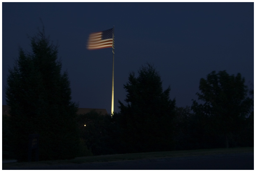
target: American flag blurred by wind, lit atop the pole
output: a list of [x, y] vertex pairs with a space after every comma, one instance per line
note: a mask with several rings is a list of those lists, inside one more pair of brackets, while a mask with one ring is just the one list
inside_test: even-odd
[[91, 33], [87, 44], [88, 50], [110, 48], [113, 46], [113, 29]]

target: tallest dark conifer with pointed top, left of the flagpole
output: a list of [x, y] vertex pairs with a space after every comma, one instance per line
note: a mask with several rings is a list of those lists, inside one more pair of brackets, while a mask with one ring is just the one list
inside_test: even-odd
[[18, 161], [28, 159], [30, 134], [39, 134], [39, 160], [71, 159], [78, 151], [76, 112], [68, 74], [61, 73], [57, 45], [44, 29], [31, 37], [31, 53], [19, 50], [9, 69], [6, 102]]

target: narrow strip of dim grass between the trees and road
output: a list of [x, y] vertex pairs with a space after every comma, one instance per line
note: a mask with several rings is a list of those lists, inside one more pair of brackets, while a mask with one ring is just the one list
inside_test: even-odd
[[214, 154], [233, 154], [233, 153], [247, 153], [253, 152], [253, 147], [245, 148], [229, 148], [229, 149], [199, 149], [187, 151], [163, 151], [163, 152], [146, 152], [136, 154], [115, 154], [102, 156], [84, 156], [77, 157], [70, 160], [56, 160], [56, 161], [40, 161], [40, 162], [20, 162], [2, 164], [3, 167], [29, 167], [29, 166], [47, 166], [60, 164], [81, 164], [81, 163], [96, 163], [96, 162], [116, 162], [116, 161], [130, 161], [138, 159], [155, 159], [164, 157], [184, 157], [184, 156], [203, 156]]

